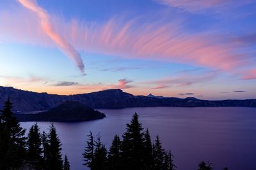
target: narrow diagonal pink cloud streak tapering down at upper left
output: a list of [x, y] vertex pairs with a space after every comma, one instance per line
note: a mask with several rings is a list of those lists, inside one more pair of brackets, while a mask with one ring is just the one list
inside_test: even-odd
[[36, 1], [19, 0], [19, 2], [24, 7], [34, 11], [38, 15], [40, 18], [40, 25], [44, 32], [52, 39], [52, 41], [54, 41], [54, 43], [56, 43], [60, 50], [67, 53], [68, 57], [76, 62], [77, 67], [79, 67], [81, 73], [84, 74], [84, 64], [83, 60], [81, 59], [81, 55], [72, 45], [70, 45], [70, 43], [68, 43], [65, 38], [61, 37], [58, 32], [53, 30], [52, 24], [50, 22], [51, 17], [48, 15], [47, 11], [38, 6]]

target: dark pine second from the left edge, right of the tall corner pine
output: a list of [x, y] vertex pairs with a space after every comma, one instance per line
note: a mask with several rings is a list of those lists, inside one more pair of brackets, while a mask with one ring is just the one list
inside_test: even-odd
[[38, 164], [42, 160], [42, 148], [39, 127], [37, 124], [32, 125], [28, 133], [28, 157], [30, 162]]

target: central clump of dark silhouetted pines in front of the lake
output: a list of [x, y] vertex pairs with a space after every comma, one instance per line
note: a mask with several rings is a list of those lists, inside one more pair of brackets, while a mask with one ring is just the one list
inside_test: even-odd
[[93, 139], [90, 132], [89, 140], [84, 150], [84, 165], [90, 169], [124, 169], [124, 170], [173, 170], [173, 157], [171, 152], [166, 152], [157, 136], [152, 144], [148, 129], [143, 131], [143, 127], [138, 121], [135, 113], [130, 124], [127, 124], [126, 132], [122, 136], [115, 136], [107, 154], [105, 146], [100, 142], [98, 134], [97, 140]]

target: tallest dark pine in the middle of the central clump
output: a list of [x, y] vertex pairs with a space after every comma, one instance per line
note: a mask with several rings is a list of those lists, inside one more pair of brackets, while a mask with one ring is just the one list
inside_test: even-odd
[[143, 169], [144, 133], [138, 114], [135, 113], [131, 123], [126, 125], [122, 142], [122, 164], [125, 169]]

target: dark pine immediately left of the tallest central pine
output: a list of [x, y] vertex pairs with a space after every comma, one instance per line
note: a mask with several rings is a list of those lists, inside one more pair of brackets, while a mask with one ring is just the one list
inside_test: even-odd
[[108, 165], [111, 170], [119, 170], [122, 165], [120, 164], [121, 158], [121, 141], [118, 135], [115, 135], [112, 145], [108, 153]]

